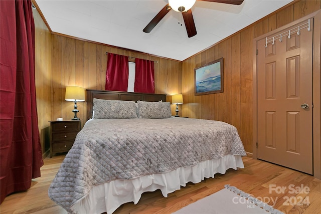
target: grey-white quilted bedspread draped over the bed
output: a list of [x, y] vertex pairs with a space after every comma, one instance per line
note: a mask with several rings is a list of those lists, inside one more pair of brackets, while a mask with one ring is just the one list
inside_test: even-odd
[[91, 187], [168, 172], [227, 154], [246, 155], [237, 129], [191, 118], [95, 119], [86, 122], [49, 188], [72, 212]]

